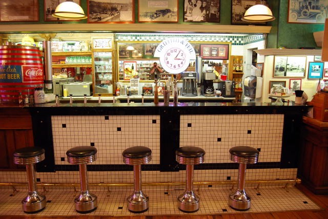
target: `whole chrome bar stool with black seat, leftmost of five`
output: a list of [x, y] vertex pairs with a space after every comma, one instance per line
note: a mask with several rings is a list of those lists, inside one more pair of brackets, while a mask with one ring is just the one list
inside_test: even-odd
[[45, 209], [46, 196], [36, 190], [36, 176], [34, 164], [45, 160], [45, 149], [40, 147], [24, 147], [15, 150], [14, 163], [26, 166], [29, 191], [22, 200], [22, 207], [25, 213], [37, 213]]

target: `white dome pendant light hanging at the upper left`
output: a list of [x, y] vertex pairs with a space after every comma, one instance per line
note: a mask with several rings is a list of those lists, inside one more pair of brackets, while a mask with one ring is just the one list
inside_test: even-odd
[[81, 6], [74, 3], [73, 0], [66, 0], [66, 2], [60, 3], [55, 12], [52, 14], [54, 17], [58, 18], [66, 18], [66, 19], [74, 19], [81, 20], [88, 18]]

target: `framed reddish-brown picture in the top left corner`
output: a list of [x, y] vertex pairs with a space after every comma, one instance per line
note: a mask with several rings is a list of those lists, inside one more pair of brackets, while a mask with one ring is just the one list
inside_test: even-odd
[[1, 0], [0, 21], [39, 21], [38, 0]]

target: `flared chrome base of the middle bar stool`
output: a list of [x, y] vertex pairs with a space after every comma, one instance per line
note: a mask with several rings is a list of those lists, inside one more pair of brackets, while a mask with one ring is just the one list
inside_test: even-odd
[[142, 191], [134, 191], [132, 195], [127, 198], [128, 209], [133, 213], [142, 213], [149, 208], [149, 198]]

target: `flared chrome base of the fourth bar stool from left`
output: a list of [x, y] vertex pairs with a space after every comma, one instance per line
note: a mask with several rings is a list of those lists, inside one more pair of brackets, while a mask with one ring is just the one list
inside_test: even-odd
[[199, 196], [194, 191], [185, 191], [177, 198], [178, 208], [187, 213], [193, 213], [199, 209]]

